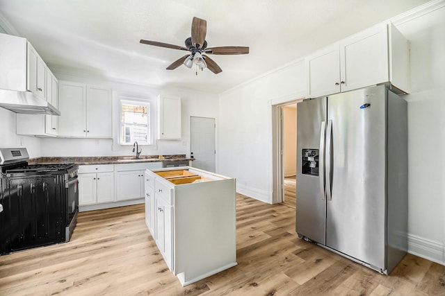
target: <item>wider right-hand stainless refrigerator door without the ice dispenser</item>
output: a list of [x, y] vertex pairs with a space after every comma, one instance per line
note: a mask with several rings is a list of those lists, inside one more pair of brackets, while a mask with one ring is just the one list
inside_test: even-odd
[[382, 270], [386, 265], [386, 94], [385, 86], [380, 86], [327, 98], [327, 117], [332, 120], [332, 200], [326, 205], [326, 245]]

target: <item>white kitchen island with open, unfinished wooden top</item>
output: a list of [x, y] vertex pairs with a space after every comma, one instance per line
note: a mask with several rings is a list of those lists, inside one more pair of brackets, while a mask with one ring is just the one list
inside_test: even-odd
[[236, 265], [235, 190], [189, 166], [145, 171], [145, 223], [182, 286]]

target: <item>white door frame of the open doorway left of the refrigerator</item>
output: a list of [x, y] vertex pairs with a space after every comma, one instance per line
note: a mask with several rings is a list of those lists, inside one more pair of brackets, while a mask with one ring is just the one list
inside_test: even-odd
[[[303, 101], [298, 98], [272, 105], [272, 203], [284, 201], [283, 107]], [[297, 165], [297, 164], [296, 164]], [[298, 168], [297, 168], [298, 169]]]

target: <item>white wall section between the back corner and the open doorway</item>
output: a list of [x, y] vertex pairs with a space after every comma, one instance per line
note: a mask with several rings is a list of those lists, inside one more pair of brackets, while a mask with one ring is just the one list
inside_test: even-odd
[[218, 173], [236, 177], [236, 191], [272, 202], [271, 105], [304, 93], [300, 60], [220, 95]]

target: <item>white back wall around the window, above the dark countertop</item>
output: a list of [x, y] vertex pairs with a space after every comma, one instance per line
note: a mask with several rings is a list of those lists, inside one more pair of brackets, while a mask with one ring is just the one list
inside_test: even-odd
[[[113, 96], [119, 94], [138, 97], [157, 98], [159, 94], [181, 97], [181, 140], [157, 141], [156, 148], [142, 147], [142, 155], [190, 155], [190, 116], [213, 117], [218, 123], [218, 97], [214, 94], [193, 92], [186, 89], [165, 87], [156, 89], [143, 85], [131, 85], [125, 82], [111, 82], [104, 78], [75, 76], [62, 71], [54, 71], [59, 80], [85, 82], [93, 85], [105, 85], [113, 89]], [[167, 90], [168, 89], [168, 90]], [[129, 148], [113, 148], [111, 139], [42, 139], [42, 156], [113, 156], [133, 155]]]

